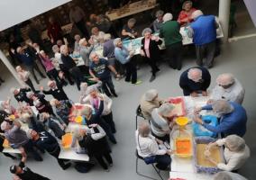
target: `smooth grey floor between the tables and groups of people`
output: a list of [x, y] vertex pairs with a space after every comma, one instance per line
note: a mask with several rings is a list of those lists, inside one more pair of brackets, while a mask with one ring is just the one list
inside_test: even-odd
[[[242, 167], [240, 173], [247, 178], [256, 179], [255, 165], [256, 165], [256, 145], [255, 133], [256, 130], [256, 106], [255, 106], [255, 51], [256, 38], [240, 40], [229, 43], [223, 47], [221, 56], [215, 59], [215, 67], [210, 69], [212, 75], [212, 83], [210, 89], [215, 85], [215, 78], [220, 73], [230, 72], [233, 73], [244, 85], [246, 94], [243, 105], [248, 113], [247, 133], [245, 135], [246, 142], [251, 148], [251, 158]], [[195, 66], [195, 59], [185, 58], [182, 71], [188, 67]], [[138, 76], [142, 79], [142, 85], [130, 85], [121, 81], [114, 81], [115, 89], [118, 98], [114, 98], [114, 121], [117, 127], [116, 139], [117, 145], [113, 146], [112, 156], [114, 158], [114, 166], [111, 167], [110, 172], [105, 172], [96, 166], [87, 174], [78, 173], [73, 166], [68, 170], [63, 171], [59, 168], [57, 161], [49, 155], [43, 155], [43, 162], [35, 162], [29, 159], [27, 166], [31, 167], [33, 171], [46, 175], [53, 180], [70, 180], [70, 179], [87, 179], [87, 180], [100, 180], [100, 179], [145, 179], [135, 173], [135, 156], [134, 156], [134, 130], [135, 130], [135, 109], [138, 105], [141, 95], [150, 88], [156, 88], [160, 92], [160, 97], [166, 98], [169, 96], [182, 95], [178, 86], [178, 78], [181, 71], [170, 69], [165, 63], [160, 64], [160, 73], [152, 83], [149, 83], [150, 68], [142, 67], [138, 71]], [[0, 86], [0, 100], [4, 100], [6, 96], [10, 95], [9, 88], [17, 86], [14, 77], [1, 66], [1, 76], [5, 79], [5, 84]], [[42, 85], [46, 85], [46, 80], [41, 81]], [[65, 87], [67, 94], [74, 101], [78, 101], [78, 90], [75, 86]], [[50, 96], [48, 96], [50, 99]], [[15, 104], [15, 100], [13, 99]], [[9, 173], [9, 166], [17, 163], [8, 157], [0, 155], [0, 179], [9, 180], [11, 175]], [[155, 175], [151, 166], [146, 166], [140, 163], [142, 172], [150, 175]], [[165, 179], [168, 178], [168, 173], [163, 173]]]

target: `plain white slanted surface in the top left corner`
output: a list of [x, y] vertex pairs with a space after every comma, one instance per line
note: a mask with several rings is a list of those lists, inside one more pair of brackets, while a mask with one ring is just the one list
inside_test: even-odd
[[0, 31], [45, 13], [70, 0], [0, 0]]

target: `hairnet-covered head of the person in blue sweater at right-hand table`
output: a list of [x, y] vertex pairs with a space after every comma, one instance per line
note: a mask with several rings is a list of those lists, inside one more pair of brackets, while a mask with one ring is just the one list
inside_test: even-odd
[[228, 101], [225, 100], [217, 100], [212, 103], [212, 108], [215, 112], [218, 113], [230, 113], [233, 112], [233, 106]]

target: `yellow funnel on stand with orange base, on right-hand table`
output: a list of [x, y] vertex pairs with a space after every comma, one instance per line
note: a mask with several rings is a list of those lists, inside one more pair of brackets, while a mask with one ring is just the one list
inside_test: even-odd
[[178, 133], [173, 137], [175, 155], [177, 157], [192, 157], [192, 137], [187, 131], [188, 118], [180, 116], [176, 119]]

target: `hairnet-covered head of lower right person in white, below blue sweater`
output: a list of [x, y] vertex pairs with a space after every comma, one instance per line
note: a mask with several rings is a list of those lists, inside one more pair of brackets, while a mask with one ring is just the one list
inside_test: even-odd
[[245, 148], [245, 141], [237, 135], [229, 135], [225, 138], [225, 146], [234, 152], [240, 152]]

